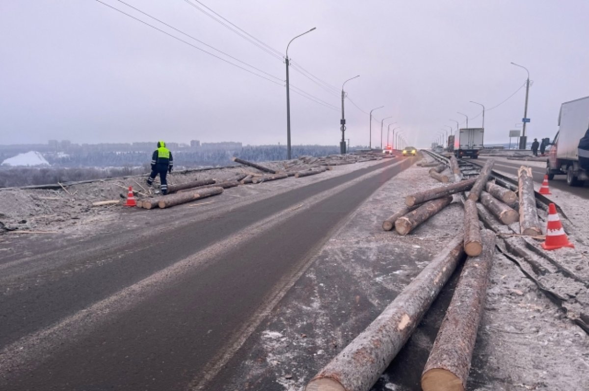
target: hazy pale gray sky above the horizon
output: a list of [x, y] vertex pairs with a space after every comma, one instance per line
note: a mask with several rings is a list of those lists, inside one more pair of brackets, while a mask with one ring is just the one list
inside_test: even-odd
[[[101, 0], [228, 59], [117, 0]], [[409, 144], [429, 145], [450, 118], [481, 125], [481, 107], [504, 101], [530, 71], [528, 140], [554, 136], [560, 104], [589, 95], [589, 1], [201, 0], [282, 53], [254, 46], [198, 9], [196, 0], [125, 0], [141, 11], [262, 69], [257, 77], [94, 0], [0, 1], [2, 144], [164, 139], [286, 144], [286, 45], [292, 144], [339, 143], [340, 90], [352, 145], [380, 144], [380, 120]], [[203, 8], [204, 9], [204, 8]], [[236, 61], [229, 59], [231, 62]], [[237, 63], [239, 64], [239, 63]], [[249, 68], [240, 64], [241, 67]], [[251, 68], [249, 68], [251, 69]], [[300, 69], [300, 68], [299, 68]], [[252, 70], [257, 74], [260, 72]], [[329, 91], [329, 92], [328, 92]], [[507, 143], [525, 88], [485, 113], [485, 143]], [[364, 112], [363, 112], [364, 111]], [[477, 118], [473, 118], [477, 116]], [[448, 128], [446, 128], [448, 129]]]

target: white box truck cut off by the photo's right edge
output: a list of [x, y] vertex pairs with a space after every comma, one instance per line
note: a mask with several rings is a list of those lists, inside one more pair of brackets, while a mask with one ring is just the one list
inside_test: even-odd
[[589, 128], [589, 97], [564, 102], [558, 114], [558, 132], [550, 143], [546, 174], [567, 175], [570, 186], [583, 185], [589, 179], [587, 167], [579, 163], [579, 141]]

